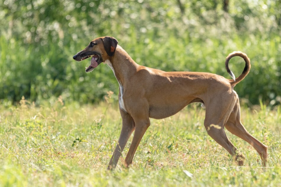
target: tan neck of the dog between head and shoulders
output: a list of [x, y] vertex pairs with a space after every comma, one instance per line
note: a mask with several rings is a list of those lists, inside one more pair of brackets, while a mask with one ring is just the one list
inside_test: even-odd
[[113, 70], [119, 83], [124, 85], [125, 81], [130, 81], [139, 65], [128, 55], [119, 45], [116, 47], [114, 58], [105, 60], [105, 63]]

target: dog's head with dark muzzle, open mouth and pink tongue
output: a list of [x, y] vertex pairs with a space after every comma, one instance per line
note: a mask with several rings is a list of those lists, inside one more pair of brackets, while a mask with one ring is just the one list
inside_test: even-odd
[[73, 56], [74, 60], [81, 61], [91, 58], [91, 65], [85, 70], [92, 71], [100, 63], [112, 57], [115, 53], [118, 41], [109, 36], [99, 37], [90, 42], [90, 44], [82, 51]]

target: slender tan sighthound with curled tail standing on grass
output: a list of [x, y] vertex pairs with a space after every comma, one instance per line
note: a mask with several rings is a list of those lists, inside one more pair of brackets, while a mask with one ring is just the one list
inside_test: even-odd
[[[234, 56], [242, 57], [246, 63], [242, 74], [236, 79], [228, 68], [228, 62]], [[224, 127], [251, 144], [259, 153], [262, 165], [266, 166], [267, 146], [249, 134], [241, 124], [239, 99], [233, 90], [250, 71], [250, 60], [246, 54], [233, 52], [226, 58], [225, 68], [233, 79], [203, 72], [165, 72], [138, 65], [115, 38], [108, 36], [92, 40], [84, 50], [73, 56], [77, 61], [89, 57], [91, 64], [86, 72], [103, 62], [113, 70], [119, 83], [122, 129], [108, 169], [116, 167], [121, 152], [135, 131], [124, 164], [128, 167], [132, 163], [139, 142], [150, 126], [149, 118], [172, 116], [194, 102], [202, 103], [206, 108], [204, 126], [209, 136], [224, 147], [238, 165], [243, 165], [245, 156], [230, 142]]]

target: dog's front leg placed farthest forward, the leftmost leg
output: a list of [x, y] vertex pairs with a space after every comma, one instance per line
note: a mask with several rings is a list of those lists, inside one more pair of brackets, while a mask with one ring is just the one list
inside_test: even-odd
[[120, 109], [120, 113], [122, 117], [122, 129], [118, 140], [118, 144], [116, 145], [116, 148], [108, 164], [108, 170], [116, 167], [121, 153], [124, 150], [124, 147], [128, 142], [130, 135], [135, 129], [133, 118], [129, 114], [125, 113], [122, 109]]

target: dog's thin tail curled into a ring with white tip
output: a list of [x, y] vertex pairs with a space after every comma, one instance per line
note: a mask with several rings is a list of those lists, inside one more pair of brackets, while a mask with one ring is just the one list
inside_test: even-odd
[[[232, 57], [235, 56], [240, 56], [245, 60], [245, 68], [242, 72], [242, 74], [235, 79], [235, 75], [232, 73], [232, 71], [229, 69], [228, 67], [228, 62]], [[227, 70], [227, 72], [229, 73], [229, 75], [231, 76], [231, 78], [233, 78], [233, 80], [230, 81], [230, 85], [231, 86], [235, 86], [236, 84], [238, 84], [240, 81], [242, 81], [246, 75], [248, 75], [250, 69], [251, 69], [251, 64], [250, 64], [250, 59], [247, 57], [247, 55], [245, 53], [242, 53], [241, 51], [234, 51], [233, 53], [230, 53], [226, 59], [225, 59], [225, 69]]]

